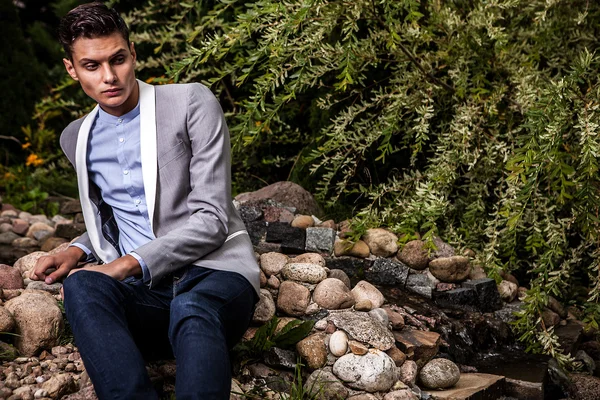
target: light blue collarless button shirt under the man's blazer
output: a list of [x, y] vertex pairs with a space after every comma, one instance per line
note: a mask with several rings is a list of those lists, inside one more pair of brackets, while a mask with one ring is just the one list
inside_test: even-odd
[[[99, 108], [90, 129], [87, 149], [89, 178], [112, 207], [119, 227], [119, 250], [135, 257], [150, 281], [148, 267], [135, 249], [155, 239], [144, 194], [140, 150], [140, 104], [120, 117]], [[74, 244], [86, 254], [90, 249]]]

